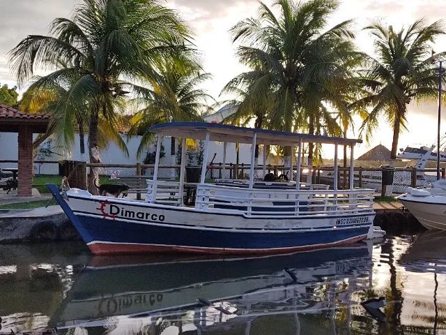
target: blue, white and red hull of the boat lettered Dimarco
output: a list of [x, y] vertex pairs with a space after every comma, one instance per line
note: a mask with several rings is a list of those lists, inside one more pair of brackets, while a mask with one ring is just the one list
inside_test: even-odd
[[53, 193], [95, 254], [289, 253], [348, 244], [373, 233], [370, 213], [253, 218], [91, 196], [69, 196], [66, 201]]

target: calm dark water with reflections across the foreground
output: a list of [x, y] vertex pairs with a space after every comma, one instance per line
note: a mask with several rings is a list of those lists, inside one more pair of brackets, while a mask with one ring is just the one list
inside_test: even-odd
[[[445, 232], [250, 259], [8, 245], [0, 333], [445, 334], [445, 286]], [[385, 297], [385, 322], [360, 304], [372, 297]]]

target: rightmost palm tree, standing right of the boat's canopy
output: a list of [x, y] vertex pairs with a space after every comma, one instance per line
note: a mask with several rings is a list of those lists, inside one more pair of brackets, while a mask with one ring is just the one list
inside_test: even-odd
[[[364, 114], [361, 133], [367, 140], [378, 126], [378, 116], [384, 115], [393, 128], [391, 158], [397, 157], [398, 137], [406, 128], [407, 106], [411, 101], [434, 99], [437, 95], [438, 66], [436, 60], [445, 52], [433, 54], [431, 43], [445, 34], [441, 21], [426, 24], [417, 20], [407, 29], [395, 31], [392, 26], [374, 22], [365, 27], [374, 36], [376, 59], [370, 57], [370, 67], [362, 78], [369, 94], [353, 106], [371, 111]], [[443, 77], [445, 82], [445, 77]]]

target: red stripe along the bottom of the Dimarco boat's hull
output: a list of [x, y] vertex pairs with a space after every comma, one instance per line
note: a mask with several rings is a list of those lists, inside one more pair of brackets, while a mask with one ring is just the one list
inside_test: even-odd
[[362, 241], [367, 235], [353, 237], [344, 241], [316, 246], [295, 246], [291, 248], [270, 248], [270, 249], [224, 249], [224, 248], [194, 248], [186, 246], [152, 246], [147, 244], [112, 244], [94, 243], [89, 244], [89, 248], [95, 255], [105, 255], [110, 253], [201, 253], [213, 255], [268, 255], [278, 253], [290, 253], [293, 251], [308, 251], [329, 246], [339, 246]]

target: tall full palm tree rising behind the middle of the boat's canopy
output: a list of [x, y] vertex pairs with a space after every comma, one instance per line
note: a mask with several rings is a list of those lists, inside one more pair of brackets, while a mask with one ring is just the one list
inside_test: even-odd
[[323, 102], [333, 99], [337, 80], [351, 75], [345, 64], [357, 58], [351, 20], [326, 27], [339, 6], [336, 0], [279, 0], [276, 5], [279, 17], [261, 3], [258, 18], [231, 29], [233, 41], [245, 43], [237, 54], [250, 68], [231, 85], [248, 84], [252, 101], [269, 95], [268, 128], [318, 133], [319, 123], [331, 124]]

